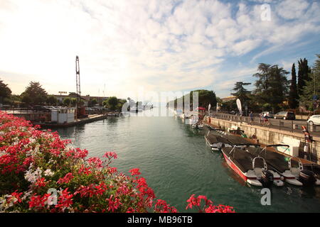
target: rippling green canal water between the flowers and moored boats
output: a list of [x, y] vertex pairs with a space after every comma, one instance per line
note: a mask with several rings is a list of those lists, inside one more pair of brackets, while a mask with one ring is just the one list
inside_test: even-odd
[[244, 184], [220, 153], [211, 152], [203, 131], [181, 118], [134, 114], [57, 131], [75, 147], [89, 150], [90, 156], [116, 152], [114, 167], [128, 175], [139, 168], [156, 196], [180, 212], [186, 212], [191, 194], [206, 195], [237, 212], [320, 212], [320, 187], [273, 187], [271, 205], [262, 206], [261, 189]]

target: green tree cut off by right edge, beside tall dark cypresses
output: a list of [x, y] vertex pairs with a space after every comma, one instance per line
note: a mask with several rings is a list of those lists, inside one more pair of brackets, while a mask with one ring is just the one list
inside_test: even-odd
[[[320, 96], [320, 55], [316, 55], [318, 59], [314, 62], [311, 73], [308, 75], [310, 80], [306, 81], [306, 86], [303, 88], [303, 94], [300, 101], [306, 106], [309, 111], [314, 111], [319, 106]], [[317, 100], [314, 100], [314, 96]]]

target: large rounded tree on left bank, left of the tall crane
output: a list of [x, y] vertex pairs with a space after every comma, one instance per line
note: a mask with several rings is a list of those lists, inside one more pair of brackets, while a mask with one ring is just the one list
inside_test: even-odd
[[21, 96], [24, 103], [39, 105], [46, 102], [48, 94], [39, 82], [30, 82]]

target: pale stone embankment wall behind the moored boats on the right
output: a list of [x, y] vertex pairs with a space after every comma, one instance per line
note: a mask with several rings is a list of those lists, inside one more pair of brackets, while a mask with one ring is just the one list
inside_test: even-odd
[[[265, 128], [260, 126], [251, 126], [247, 123], [240, 123], [235, 121], [225, 121], [222, 119], [206, 117], [204, 118], [204, 123], [208, 123], [211, 126], [228, 129], [232, 126], [238, 126], [241, 130], [245, 131], [247, 137], [252, 137], [253, 134], [257, 136], [260, 143], [263, 144], [279, 144], [283, 143], [284, 138], [286, 140], [299, 140], [300, 149], [303, 151], [304, 146], [304, 134], [303, 133], [291, 133], [289, 131], [279, 131], [274, 128]], [[314, 161], [320, 164], [320, 138], [313, 137], [314, 142], [311, 143], [311, 156], [314, 157]]]

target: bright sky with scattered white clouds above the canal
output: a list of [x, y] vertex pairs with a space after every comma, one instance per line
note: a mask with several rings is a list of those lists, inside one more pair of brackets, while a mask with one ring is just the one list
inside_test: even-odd
[[31, 81], [75, 92], [78, 55], [82, 95], [229, 96], [261, 62], [312, 65], [319, 11], [319, 0], [0, 0], [0, 79], [14, 94]]

